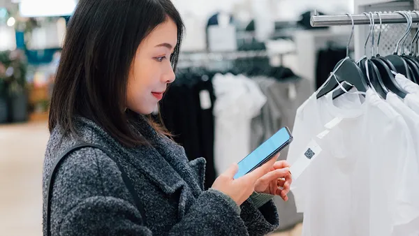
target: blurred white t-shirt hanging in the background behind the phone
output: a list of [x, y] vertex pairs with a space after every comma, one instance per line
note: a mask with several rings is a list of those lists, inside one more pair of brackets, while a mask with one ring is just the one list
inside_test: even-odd
[[251, 119], [260, 114], [267, 98], [244, 75], [217, 74], [212, 84], [216, 95], [214, 165], [221, 174], [251, 152]]

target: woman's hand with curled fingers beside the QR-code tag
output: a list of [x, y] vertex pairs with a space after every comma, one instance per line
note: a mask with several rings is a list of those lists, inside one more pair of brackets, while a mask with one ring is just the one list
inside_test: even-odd
[[288, 200], [291, 178], [290, 166], [286, 161], [277, 161], [274, 163], [270, 172], [256, 181], [256, 193], [266, 193], [281, 196], [284, 201]]

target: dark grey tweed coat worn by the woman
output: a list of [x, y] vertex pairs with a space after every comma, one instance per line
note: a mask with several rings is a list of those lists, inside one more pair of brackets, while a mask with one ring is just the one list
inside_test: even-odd
[[[153, 147], [128, 149], [94, 122], [77, 121], [82, 140], [105, 147], [122, 164], [142, 200], [147, 224], [142, 223], [115, 161], [87, 147], [67, 156], [55, 175], [52, 235], [266, 235], [279, 226], [272, 200], [256, 208], [249, 199], [237, 211], [228, 196], [203, 190], [205, 159], [188, 162], [181, 146], [147, 122], [140, 123], [135, 130]], [[47, 174], [59, 154], [75, 142], [58, 128], [50, 136], [43, 168], [43, 235]]]

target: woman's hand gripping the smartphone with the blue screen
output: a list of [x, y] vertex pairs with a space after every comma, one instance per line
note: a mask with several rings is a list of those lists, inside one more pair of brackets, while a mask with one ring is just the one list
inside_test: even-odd
[[237, 205], [240, 206], [253, 193], [256, 181], [260, 179], [260, 177], [263, 177], [263, 175], [266, 175], [267, 172], [270, 172], [275, 161], [277, 161], [277, 159], [272, 158], [259, 168], [238, 179], [234, 179], [235, 174], [239, 170], [238, 165], [235, 163], [231, 165], [226, 172], [223, 172], [223, 174], [216, 178], [214, 184], [212, 184], [212, 189], [221, 191], [230, 196], [230, 198], [233, 198]]

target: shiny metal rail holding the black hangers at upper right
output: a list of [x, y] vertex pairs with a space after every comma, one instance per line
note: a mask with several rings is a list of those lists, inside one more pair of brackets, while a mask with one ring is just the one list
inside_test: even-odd
[[[408, 12], [413, 20], [413, 23], [419, 23], [419, 12]], [[399, 13], [374, 13], [374, 23], [380, 24], [402, 24], [406, 23], [406, 17]], [[369, 24], [369, 15], [365, 14], [351, 14], [353, 24]], [[338, 25], [352, 25], [352, 20], [349, 15], [311, 15], [310, 24], [312, 27], [331, 27]]]

